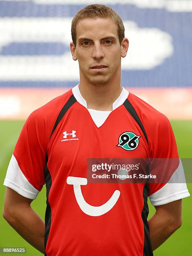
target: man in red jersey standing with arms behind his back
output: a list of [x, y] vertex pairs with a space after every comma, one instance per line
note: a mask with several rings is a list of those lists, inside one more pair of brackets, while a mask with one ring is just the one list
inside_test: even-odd
[[[153, 255], [181, 226], [186, 184], [87, 184], [87, 159], [178, 158], [171, 125], [120, 85], [129, 42], [114, 10], [80, 10], [72, 41], [80, 83], [27, 119], [4, 182], [4, 218], [47, 256]], [[123, 148], [130, 133], [137, 143]], [[173, 171], [182, 175], [181, 164]], [[44, 183], [45, 224], [30, 206]], [[147, 222], [148, 196], [156, 213]]]

